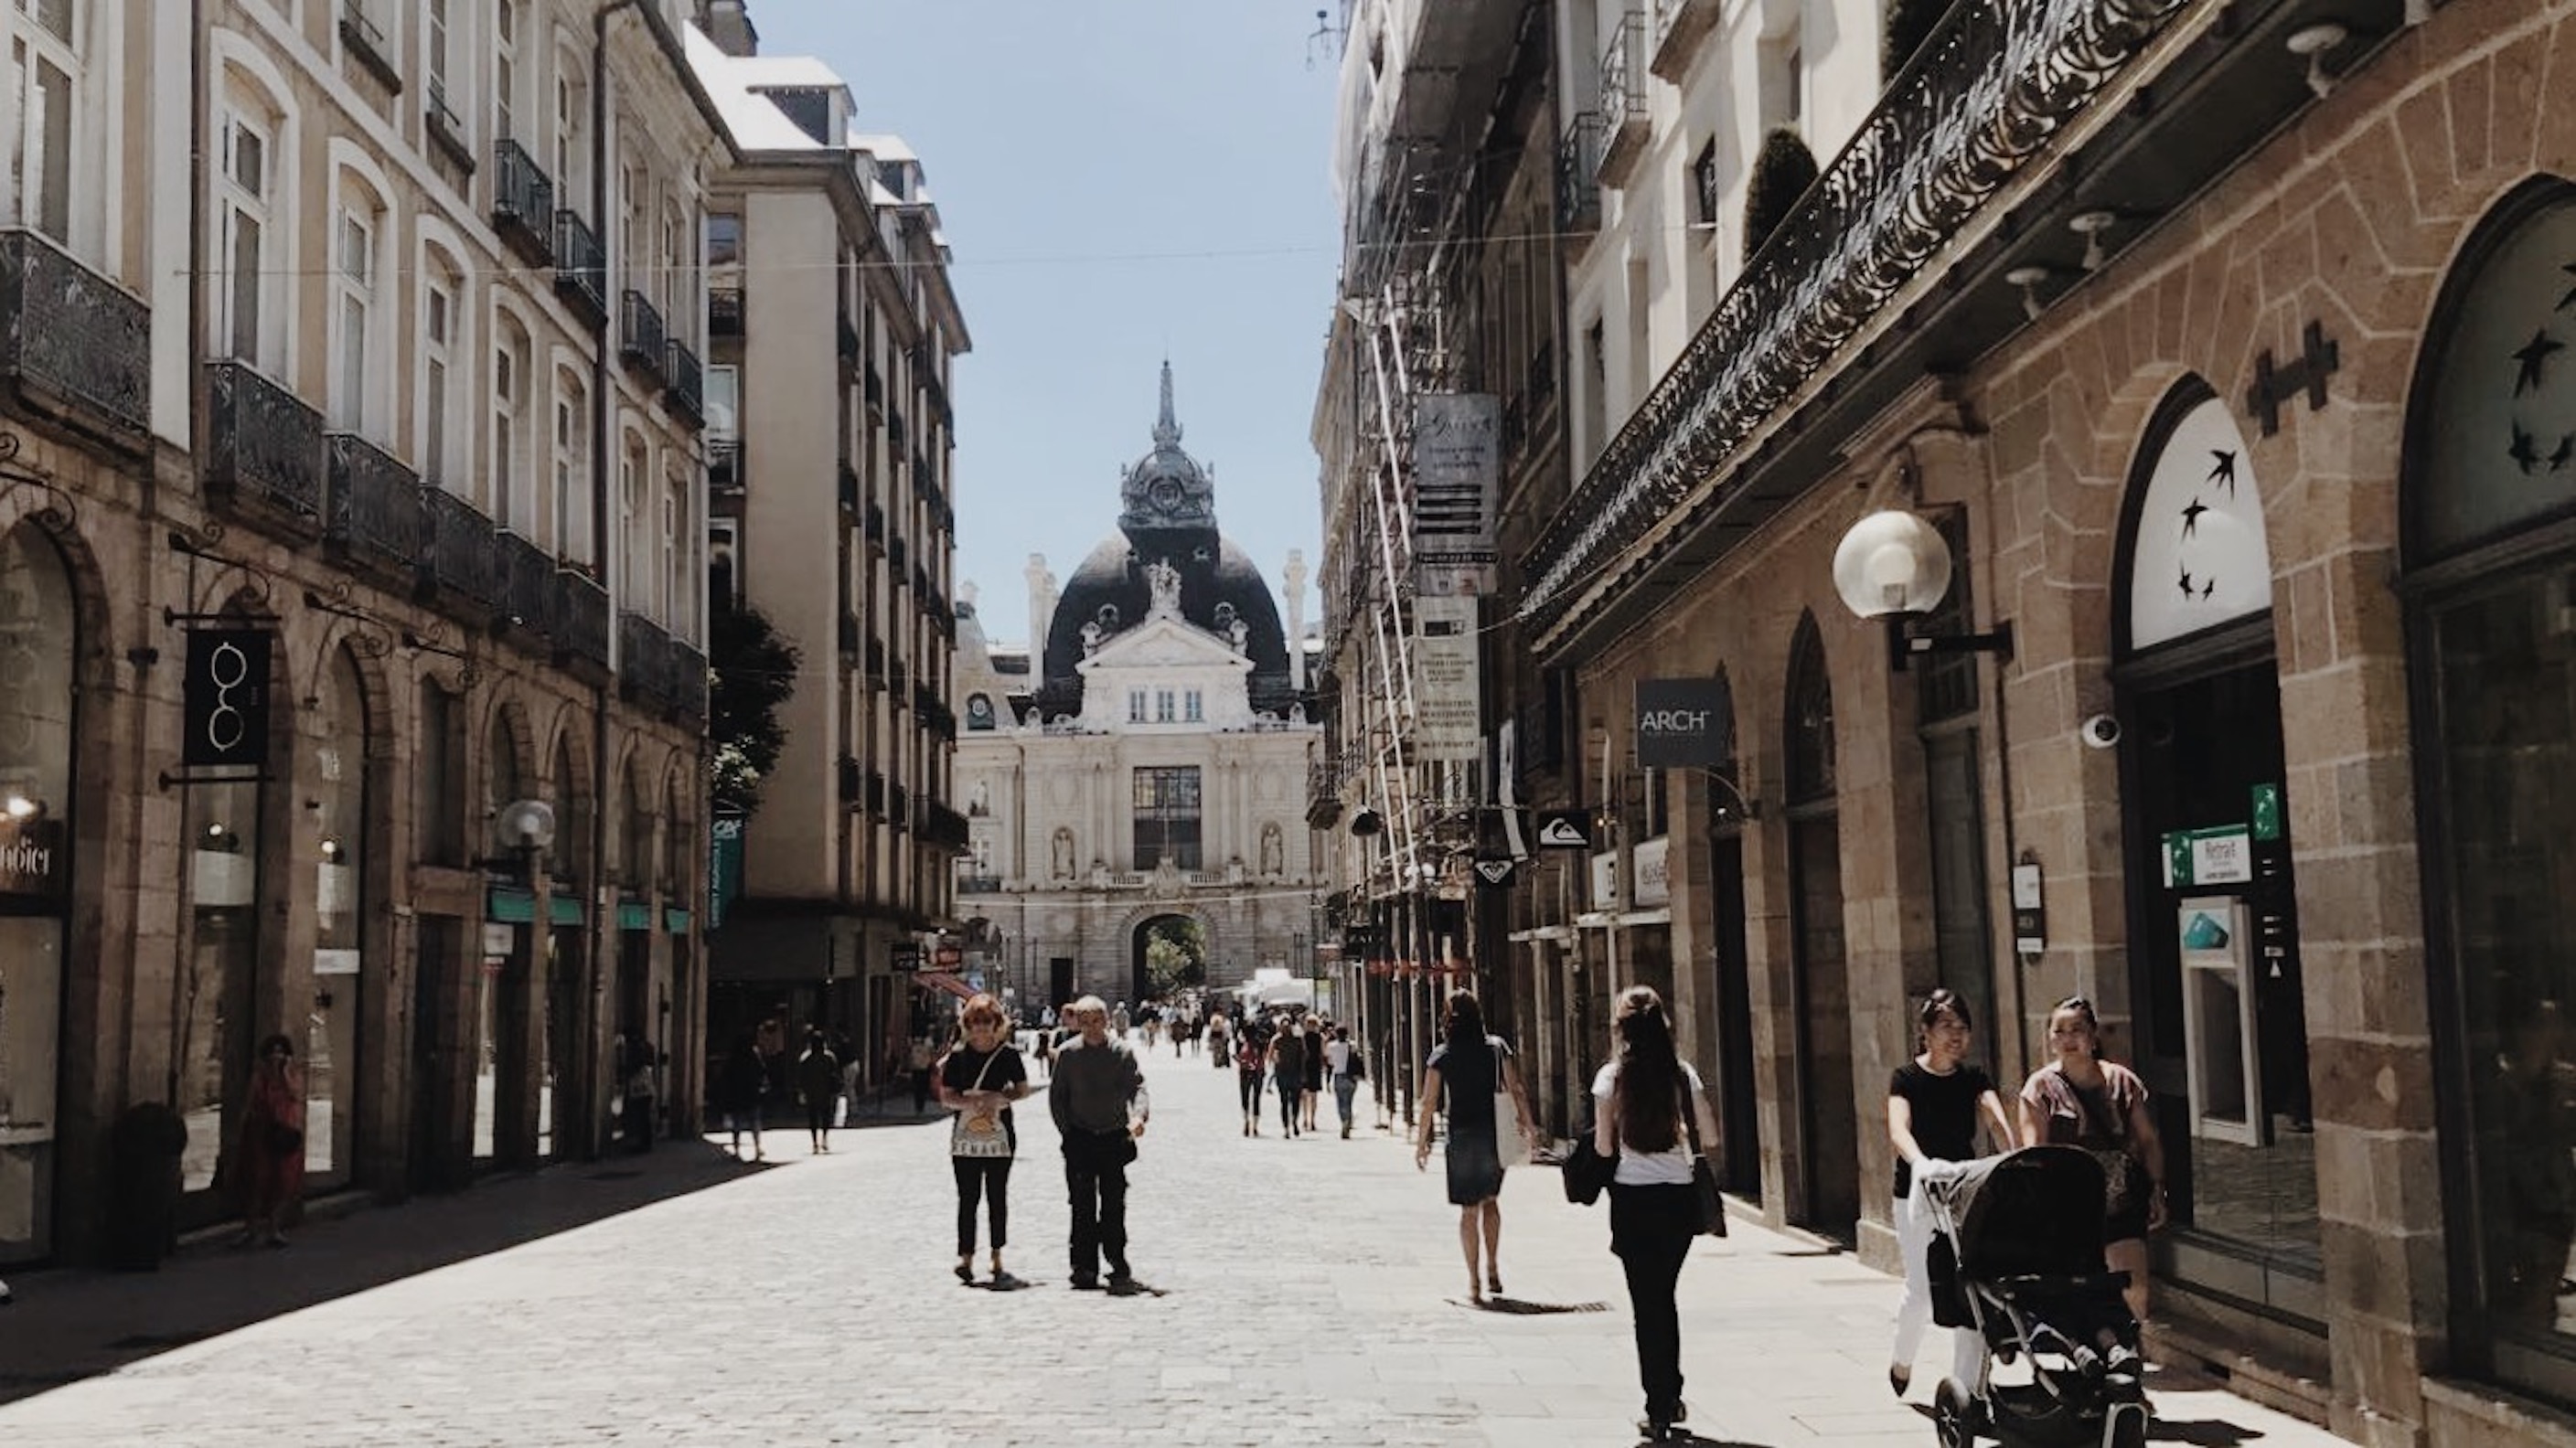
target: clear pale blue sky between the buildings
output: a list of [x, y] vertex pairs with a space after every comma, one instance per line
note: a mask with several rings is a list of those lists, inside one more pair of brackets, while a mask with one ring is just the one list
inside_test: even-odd
[[[1340, 263], [1329, 0], [752, 0], [762, 54], [850, 82], [920, 152], [974, 335], [958, 358], [958, 577], [1025, 639], [1118, 526], [1172, 358], [1216, 520], [1280, 585], [1321, 559], [1306, 441]], [[1306, 67], [1314, 54], [1314, 70]], [[1314, 585], [1306, 618], [1319, 613]]]

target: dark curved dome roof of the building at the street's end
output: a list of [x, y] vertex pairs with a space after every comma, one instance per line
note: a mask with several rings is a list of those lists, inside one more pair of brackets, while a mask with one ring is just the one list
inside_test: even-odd
[[[1170, 559], [1180, 569], [1180, 616], [1190, 624], [1224, 634], [1218, 608], [1229, 608], [1244, 624], [1244, 654], [1252, 657], [1252, 709], [1285, 709], [1288, 688], [1288, 634], [1280, 629], [1278, 603], [1270, 582], [1252, 562], [1252, 554], [1231, 538], [1203, 536], [1190, 557]], [[1208, 549], [1208, 541], [1216, 546]], [[1213, 557], [1211, 557], [1213, 554]], [[1133, 629], [1144, 621], [1154, 595], [1144, 582], [1141, 557], [1126, 533], [1105, 538], [1056, 598], [1056, 616], [1046, 626], [1046, 667], [1041, 706], [1048, 716], [1072, 714], [1082, 706], [1082, 626], [1103, 624], [1105, 634]], [[1103, 618], [1113, 608], [1115, 624]]]

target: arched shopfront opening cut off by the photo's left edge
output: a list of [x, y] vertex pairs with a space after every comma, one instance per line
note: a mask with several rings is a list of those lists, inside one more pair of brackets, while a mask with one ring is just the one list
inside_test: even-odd
[[77, 657], [72, 575], [18, 526], [0, 536], [0, 1262], [54, 1250]]

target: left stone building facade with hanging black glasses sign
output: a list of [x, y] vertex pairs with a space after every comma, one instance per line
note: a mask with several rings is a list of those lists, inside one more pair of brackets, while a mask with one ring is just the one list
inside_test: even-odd
[[270, 1033], [312, 1193], [595, 1154], [629, 1077], [688, 1121], [683, 23], [0, 21], [0, 1260], [108, 1247], [134, 1108], [185, 1126], [180, 1224], [234, 1211]]

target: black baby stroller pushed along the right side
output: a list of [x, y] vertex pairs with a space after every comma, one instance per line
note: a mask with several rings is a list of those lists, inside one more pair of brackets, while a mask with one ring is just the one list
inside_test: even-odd
[[1932, 1317], [1986, 1340], [1978, 1381], [1940, 1386], [1940, 1445], [1984, 1435], [2143, 1448], [2138, 1322], [2120, 1296], [2128, 1273], [2102, 1268], [2102, 1165], [2074, 1147], [2027, 1147], [1924, 1185]]

